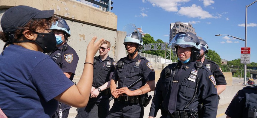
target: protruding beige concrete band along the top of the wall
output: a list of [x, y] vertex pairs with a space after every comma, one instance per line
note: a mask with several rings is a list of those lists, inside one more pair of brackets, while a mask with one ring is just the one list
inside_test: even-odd
[[117, 31], [117, 16], [76, 0], [1, 0], [0, 9], [27, 5], [39, 10], [54, 10], [65, 19]]

